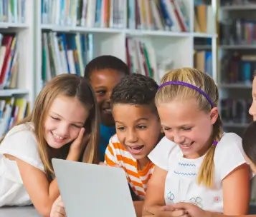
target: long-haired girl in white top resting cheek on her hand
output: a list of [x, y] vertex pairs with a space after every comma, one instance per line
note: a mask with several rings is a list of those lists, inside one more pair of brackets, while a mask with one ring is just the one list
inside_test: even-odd
[[99, 121], [86, 79], [62, 74], [49, 81], [31, 115], [1, 141], [0, 206], [33, 203], [40, 215], [49, 216], [60, 195], [51, 159], [98, 163]]

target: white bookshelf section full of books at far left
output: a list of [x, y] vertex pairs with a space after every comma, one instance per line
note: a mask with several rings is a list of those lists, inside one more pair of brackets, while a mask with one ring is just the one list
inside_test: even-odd
[[34, 91], [34, 0], [0, 0], [0, 137], [30, 111]]

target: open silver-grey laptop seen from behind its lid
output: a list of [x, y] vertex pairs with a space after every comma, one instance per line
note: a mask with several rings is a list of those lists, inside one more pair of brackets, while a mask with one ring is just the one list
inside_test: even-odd
[[52, 158], [67, 217], [136, 217], [121, 168]]

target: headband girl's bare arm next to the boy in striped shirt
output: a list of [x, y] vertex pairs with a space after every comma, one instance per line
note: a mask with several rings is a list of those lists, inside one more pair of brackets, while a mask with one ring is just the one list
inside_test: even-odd
[[143, 216], [148, 214], [148, 208], [152, 206], [164, 206], [164, 187], [168, 171], [155, 166], [150, 181], [148, 181], [148, 189], [146, 191], [146, 199], [143, 206]]

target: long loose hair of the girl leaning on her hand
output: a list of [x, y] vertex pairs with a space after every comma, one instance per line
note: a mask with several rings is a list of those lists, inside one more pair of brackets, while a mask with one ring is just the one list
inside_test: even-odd
[[[85, 121], [84, 127], [86, 133], [90, 133], [90, 138], [82, 153], [81, 161], [85, 163], [99, 162], [98, 146], [100, 137], [100, 115], [95, 94], [90, 83], [86, 79], [78, 77], [75, 74], [55, 76], [54, 79], [44, 86], [44, 89], [42, 89], [37, 96], [32, 113], [16, 124], [19, 125], [27, 122], [34, 124], [34, 134], [38, 142], [39, 156], [48, 178], [54, 173], [51, 162], [53, 156], [51, 155], [51, 148], [44, 139], [44, 121], [52, 102], [60, 95], [75, 97], [85, 106], [85, 109], [89, 111], [89, 116]], [[2, 138], [1, 141], [3, 139], [4, 138]], [[67, 157], [69, 148], [70, 144], [66, 144], [60, 148], [60, 158]]]

